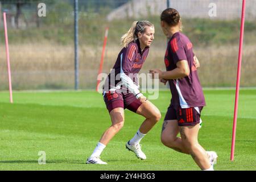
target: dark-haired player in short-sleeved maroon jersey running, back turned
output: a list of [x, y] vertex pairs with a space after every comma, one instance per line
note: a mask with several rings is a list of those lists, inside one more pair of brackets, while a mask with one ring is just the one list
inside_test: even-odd
[[[161, 82], [168, 80], [171, 89], [171, 104], [164, 118], [161, 141], [176, 151], [190, 154], [202, 170], [213, 170], [217, 154], [205, 151], [197, 137], [200, 128], [200, 114], [205, 106], [205, 98], [197, 75], [190, 40], [182, 34], [179, 12], [168, 8], [160, 17], [161, 27], [168, 42], [164, 63], [166, 71], [152, 69], [150, 73], [159, 74]], [[181, 138], [177, 137], [180, 133]]]

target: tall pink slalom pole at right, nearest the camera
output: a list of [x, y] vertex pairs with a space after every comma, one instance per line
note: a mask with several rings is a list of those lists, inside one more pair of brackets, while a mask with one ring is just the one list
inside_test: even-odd
[[239, 45], [239, 55], [238, 55], [238, 67], [237, 67], [236, 100], [235, 100], [235, 106], [234, 106], [233, 134], [232, 134], [232, 146], [231, 146], [231, 155], [230, 155], [230, 160], [232, 161], [234, 160], [234, 148], [236, 143], [237, 111], [238, 111], [242, 51], [243, 51], [243, 30], [245, 27], [245, 5], [246, 5], [246, 0], [243, 0], [241, 30], [240, 30], [240, 45]]

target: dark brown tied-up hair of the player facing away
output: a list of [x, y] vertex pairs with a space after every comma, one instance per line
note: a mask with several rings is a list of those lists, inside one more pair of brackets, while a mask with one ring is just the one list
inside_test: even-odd
[[160, 16], [161, 21], [166, 22], [169, 26], [176, 26], [180, 20], [180, 14], [177, 10], [167, 8]]

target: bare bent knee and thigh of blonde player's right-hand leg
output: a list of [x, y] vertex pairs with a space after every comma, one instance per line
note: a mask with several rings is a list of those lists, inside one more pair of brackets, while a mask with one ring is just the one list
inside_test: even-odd
[[143, 115], [145, 118], [155, 117], [156, 115], [160, 115], [160, 111], [158, 107], [156, 107], [152, 102], [146, 101], [136, 111], [137, 114]]

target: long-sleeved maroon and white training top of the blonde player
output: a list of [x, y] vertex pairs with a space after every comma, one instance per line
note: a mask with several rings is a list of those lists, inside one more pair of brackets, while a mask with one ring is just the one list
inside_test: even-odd
[[[133, 93], [135, 96], [138, 95], [138, 73], [146, 60], [148, 51], [149, 47], [144, 48], [143, 52], [141, 51], [138, 39], [135, 42], [129, 43], [127, 47], [123, 47], [117, 56], [112, 71], [106, 78], [104, 92], [110, 90], [110, 92]], [[126, 82], [128, 86], [125, 86], [123, 82]]]

